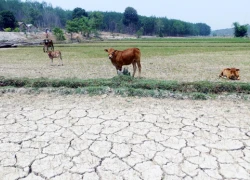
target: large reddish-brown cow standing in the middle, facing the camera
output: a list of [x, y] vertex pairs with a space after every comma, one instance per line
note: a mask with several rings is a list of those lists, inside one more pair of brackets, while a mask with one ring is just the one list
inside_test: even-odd
[[123, 51], [115, 50], [113, 48], [104, 49], [108, 52], [108, 57], [111, 60], [112, 64], [116, 67], [117, 73], [118, 70], [122, 71], [122, 66], [124, 65], [133, 65], [133, 77], [136, 72], [136, 65], [139, 69], [139, 77], [141, 76], [141, 52], [138, 48], [129, 48]]

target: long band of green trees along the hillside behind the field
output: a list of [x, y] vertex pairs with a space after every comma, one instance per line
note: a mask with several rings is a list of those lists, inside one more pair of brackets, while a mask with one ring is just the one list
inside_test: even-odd
[[[14, 22], [10, 24], [12, 21]], [[141, 16], [132, 7], [127, 7], [124, 13], [87, 12], [82, 8], [75, 8], [73, 11], [60, 7], [54, 8], [46, 2], [0, 0], [0, 30], [14, 29], [17, 27], [17, 21], [34, 24], [41, 29], [62, 28], [71, 33], [81, 32], [86, 37], [97, 31], [160, 37], [207, 36], [211, 33], [210, 26], [205, 23], [190, 23], [167, 17]]]

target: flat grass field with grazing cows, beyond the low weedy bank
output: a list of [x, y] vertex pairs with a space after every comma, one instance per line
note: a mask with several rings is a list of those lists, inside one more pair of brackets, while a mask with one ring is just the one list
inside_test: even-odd
[[[236, 38], [164, 38], [55, 44], [64, 66], [51, 66], [42, 46], [0, 49], [0, 76], [96, 79], [116, 76], [105, 48], [141, 49], [146, 79], [225, 81], [221, 69], [240, 68], [241, 82], [250, 82], [250, 40]], [[55, 64], [57, 59], [55, 59]], [[132, 66], [128, 66], [132, 71]], [[138, 74], [136, 74], [137, 76]]]

